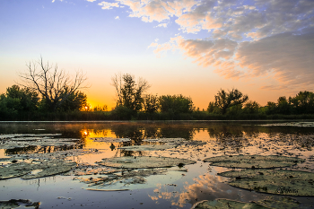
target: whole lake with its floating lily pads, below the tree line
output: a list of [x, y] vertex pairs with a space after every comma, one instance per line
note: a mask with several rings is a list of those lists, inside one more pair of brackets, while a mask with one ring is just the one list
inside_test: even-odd
[[[314, 207], [313, 179], [298, 185], [304, 180], [299, 174], [314, 173], [312, 122], [1, 122], [0, 142], [0, 170], [15, 166], [1, 174], [1, 206], [191, 208], [223, 198], [275, 208]], [[235, 155], [249, 160], [228, 164]], [[273, 155], [284, 158], [259, 161]], [[218, 156], [227, 164], [214, 162]], [[262, 163], [274, 168], [258, 170]], [[286, 181], [274, 177], [274, 192], [269, 185], [241, 186], [251, 177], [222, 174], [230, 170], [257, 171], [258, 180], [269, 178], [269, 170], [303, 172], [284, 174]], [[257, 179], [245, 182], [257, 184]]]

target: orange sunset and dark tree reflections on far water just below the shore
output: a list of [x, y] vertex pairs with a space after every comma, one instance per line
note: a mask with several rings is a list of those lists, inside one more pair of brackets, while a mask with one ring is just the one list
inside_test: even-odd
[[[8, 149], [5, 154], [56, 152], [67, 149], [102, 149], [117, 152], [118, 147], [147, 144], [146, 138], [184, 138], [187, 140], [214, 140], [214, 152], [243, 152], [249, 146], [263, 146], [262, 141], [293, 144], [297, 149], [311, 150], [312, 127], [256, 126], [264, 122], [167, 122], [167, 123], [13, 123], [0, 124], [0, 134], [62, 134], [62, 138], [80, 138], [77, 146], [48, 146]], [[207, 135], [205, 135], [207, 133]], [[301, 135], [301, 136], [300, 136]], [[104, 144], [92, 137], [130, 138], [130, 143]], [[254, 139], [252, 143], [252, 139]], [[258, 142], [260, 140], [260, 142]], [[258, 145], [259, 143], [259, 145]], [[269, 144], [268, 144], [269, 145]], [[268, 148], [269, 149], [269, 148]], [[116, 155], [144, 155], [144, 152], [118, 151]]]

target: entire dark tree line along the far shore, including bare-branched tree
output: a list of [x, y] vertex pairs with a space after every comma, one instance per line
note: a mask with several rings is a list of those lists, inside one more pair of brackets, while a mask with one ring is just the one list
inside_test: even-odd
[[[295, 97], [279, 97], [261, 107], [237, 89], [220, 90], [207, 109], [196, 109], [190, 97], [147, 94], [150, 84], [132, 74], [115, 74], [111, 85], [116, 91], [116, 107], [90, 109], [81, 91], [87, 78], [82, 72], [71, 77], [57, 65], [44, 64], [42, 58], [27, 65], [21, 83], [0, 95], [1, 120], [58, 119], [243, 119], [314, 114], [314, 93], [300, 91]], [[279, 117], [280, 118], [280, 117]], [[282, 117], [283, 118], [283, 117]]]

